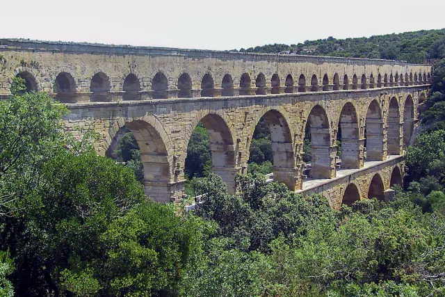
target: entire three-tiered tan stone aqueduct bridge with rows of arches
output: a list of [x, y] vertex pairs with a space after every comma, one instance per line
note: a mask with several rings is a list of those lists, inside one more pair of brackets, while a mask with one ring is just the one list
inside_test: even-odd
[[[183, 195], [198, 122], [209, 131], [212, 170], [233, 193], [261, 118], [273, 142], [275, 181], [324, 193], [334, 208], [343, 197], [383, 199], [393, 175], [401, 183], [400, 155], [430, 72], [428, 65], [375, 59], [0, 40], [0, 96], [10, 95], [14, 77], [28, 90], [47, 91], [67, 103], [66, 129], [102, 135], [99, 154], [128, 127], [141, 150], [145, 192], [161, 202]], [[305, 131], [310, 170], [302, 161]]]

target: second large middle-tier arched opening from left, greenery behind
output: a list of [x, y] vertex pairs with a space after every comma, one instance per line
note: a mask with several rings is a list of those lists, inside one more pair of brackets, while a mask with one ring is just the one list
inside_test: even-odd
[[222, 177], [227, 191], [234, 193], [234, 141], [227, 122], [209, 113], [201, 118], [187, 144], [184, 170], [188, 178], [202, 177], [210, 170]]

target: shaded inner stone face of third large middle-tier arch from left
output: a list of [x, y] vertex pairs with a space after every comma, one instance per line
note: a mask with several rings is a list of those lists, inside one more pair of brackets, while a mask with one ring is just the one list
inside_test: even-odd
[[[261, 115], [252, 125], [252, 133], [261, 118], [264, 118], [270, 131], [270, 140], [272, 141], [273, 152], [273, 180], [282, 182], [291, 190], [296, 190], [296, 161], [293, 154], [293, 132], [290, 126], [289, 115], [282, 108], [263, 109]], [[289, 120], [288, 120], [289, 119]], [[250, 145], [250, 143], [249, 143]]]

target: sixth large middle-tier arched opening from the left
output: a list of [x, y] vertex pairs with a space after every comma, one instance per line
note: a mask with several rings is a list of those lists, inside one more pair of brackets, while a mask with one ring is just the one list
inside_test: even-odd
[[369, 104], [365, 122], [366, 160], [383, 160], [383, 120], [382, 110], [376, 100]]

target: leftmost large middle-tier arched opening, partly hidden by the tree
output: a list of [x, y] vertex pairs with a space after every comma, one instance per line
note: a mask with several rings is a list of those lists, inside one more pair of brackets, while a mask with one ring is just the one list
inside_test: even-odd
[[125, 123], [113, 137], [106, 155], [133, 168], [145, 186], [145, 194], [158, 202], [170, 202], [168, 152], [163, 138], [148, 122]]

